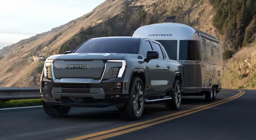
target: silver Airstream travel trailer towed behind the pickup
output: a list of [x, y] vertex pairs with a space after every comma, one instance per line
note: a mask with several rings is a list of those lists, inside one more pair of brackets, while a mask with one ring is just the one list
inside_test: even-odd
[[164, 23], [138, 28], [133, 36], [147, 37], [160, 42], [170, 59], [184, 67], [182, 95], [205, 95], [215, 100], [221, 90], [223, 75], [222, 50], [214, 36], [188, 25], [174, 23], [168, 16]]

